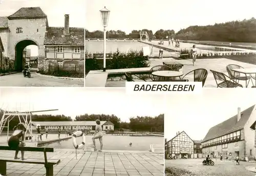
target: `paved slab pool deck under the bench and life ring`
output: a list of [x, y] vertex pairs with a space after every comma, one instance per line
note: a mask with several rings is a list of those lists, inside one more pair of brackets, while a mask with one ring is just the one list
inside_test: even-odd
[[[14, 156], [14, 151], [0, 151], [2, 157]], [[20, 155], [20, 154], [19, 154]], [[74, 176], [162, 176], [164, 156], [149, 151], [102, 150], [102, 152], [84, 152], [75, 149], [55, 149], [47, 154], [49, 159], [60, 159], [54, 166], [54, 175]], [[44, 159], [44, 153], [25, 152], [25, 158]], [[42, 176], [44, 165], [7, 163], [7, 175]]]

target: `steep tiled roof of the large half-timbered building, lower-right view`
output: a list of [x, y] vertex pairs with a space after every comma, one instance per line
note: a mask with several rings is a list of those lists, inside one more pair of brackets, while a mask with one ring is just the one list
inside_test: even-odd
[[254, 108], [255, 108], [255, 105], [241, 112], [241, 119], [239, 121], [237, 120], [238, 115], [235, 115], [230, 119], [227, 119], [226, 121], [218, 125], [215, 125], [214, 127], [211, 127], [202, 142], [208, 141], [210, 139], [214, 139], [217, 137], [221, 137], [223, 135], [229, 134], [239, 129], [243, 129], [245, 123], [248, 121], [249, 117], [251, 116], [251, 113], [254, 110]]

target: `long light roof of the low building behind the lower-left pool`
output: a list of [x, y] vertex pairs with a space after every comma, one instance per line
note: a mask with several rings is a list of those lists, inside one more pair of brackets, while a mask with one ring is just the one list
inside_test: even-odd
[[[103, 125], [106, 121], [100, 121], [100, 125]], [[56, 121], [56, 122], [32, 122], [33, 125], [40, 124], [41, 126], [95, 126], [95, 121]]]

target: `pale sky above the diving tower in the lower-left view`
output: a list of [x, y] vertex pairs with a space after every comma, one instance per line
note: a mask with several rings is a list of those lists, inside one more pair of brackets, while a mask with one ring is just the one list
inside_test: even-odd
[[163, 96], [126, 95], [123, 88], [2, 87], [0, 108], [9, 111], [58, 111], [37, 114], [63, 114], [75, 118], [83, 114], [116, 115], [123, 122], [130, 117], [163, 114]]

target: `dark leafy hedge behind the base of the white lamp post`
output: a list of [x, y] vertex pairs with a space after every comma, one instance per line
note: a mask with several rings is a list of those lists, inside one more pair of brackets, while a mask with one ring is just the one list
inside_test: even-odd
[[[86, 52], [86, 74], [91, 70], [102, 70], [103, 59], [94, 58], [93, 54]], [[117, 49], [113, 53], [112, 59], [106, 59], [106, 69], [130, 69], [149, 67], [149, 62], [146, 56], [143, 56], [143, 51], [130, 50], [127, 53], [121, 53]]]

